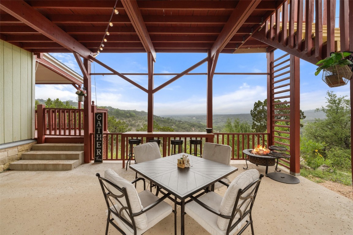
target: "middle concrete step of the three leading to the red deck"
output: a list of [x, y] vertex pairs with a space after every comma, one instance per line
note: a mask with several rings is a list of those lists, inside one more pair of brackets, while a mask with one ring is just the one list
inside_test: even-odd
[[77, 160], [83, 159], [84, 151], [32, 150], [22, 154], [22, 160]]

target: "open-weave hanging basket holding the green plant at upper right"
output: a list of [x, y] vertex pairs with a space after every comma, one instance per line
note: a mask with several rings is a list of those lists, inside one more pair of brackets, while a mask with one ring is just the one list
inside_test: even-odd
[[347, 65], [339, 66], [335, 65], [326, 69], [323, 69], [322, 80], [329, 87], [339, 87], [346, 85], [352, 77], [352, 71]]

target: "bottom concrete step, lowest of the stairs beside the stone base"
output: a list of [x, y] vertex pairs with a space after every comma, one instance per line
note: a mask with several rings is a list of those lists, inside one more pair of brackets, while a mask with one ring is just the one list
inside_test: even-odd
[[10, 170], [69, 171], [79, 165], [80, 160], [19, 160], [10, 163]]

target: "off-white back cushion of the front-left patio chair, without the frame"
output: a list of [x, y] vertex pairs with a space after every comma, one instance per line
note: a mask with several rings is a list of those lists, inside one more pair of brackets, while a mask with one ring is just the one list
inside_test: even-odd
[[[136, 191], [136, 188], [131, 184], [129, 181], [126, 179], [120, 177], [118, 174], [116, 174], [112, 169], [106, 169], [104, 171], [104, 178], [112, 181], [114, 184], [119, 186], [120, 188], [126, 188], [127, 196], [130, 201], [130, 206], [131, 206], [131, 211], [132, 213], [137, 213], [143, 209], [143, 206], [141, 204], [140, 198], [138, 196], [138, 193]], [[109, 185], [108, 185], [109, 187]], [[112, 191], [116, 195], [120, 195], [121, 193], [118, 190], [115, 190], [115, 188], [109, 187], [109, 190]], [[127, 206], [126, 200], [124, 197], [120, 198], [120, 202], [124, 205]], [[115, 202], [116, 205], [121, 207], [119, 202]], [[124, 217], [131, 222], [129, 216], [127, 215], [127, 212], [124, 211], [123, 214], [125, 215]], [[147, 218], [145, 213], [139, 216], [134, 217], [134, 221], [136, 224], [137, 228], [144, 229], [147, 227]]]

